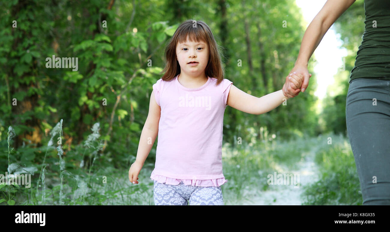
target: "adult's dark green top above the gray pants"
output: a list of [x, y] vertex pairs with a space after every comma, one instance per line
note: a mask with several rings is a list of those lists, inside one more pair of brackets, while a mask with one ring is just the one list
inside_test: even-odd
[[365, 32], [357, 51], [353, 79], [390, 80], [390, 0], [364, 0]]

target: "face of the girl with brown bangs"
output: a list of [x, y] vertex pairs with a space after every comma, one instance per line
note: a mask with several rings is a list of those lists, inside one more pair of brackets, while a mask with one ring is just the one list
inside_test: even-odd
[[[181, 72], [189, 76], [200, 76], [206, 69], [209, 61], [209, 47], [206, 42], [191, 42], [176, 44], [176, 57], [179, 62]], [[197, 62], [190, 64], [189, 62]]]

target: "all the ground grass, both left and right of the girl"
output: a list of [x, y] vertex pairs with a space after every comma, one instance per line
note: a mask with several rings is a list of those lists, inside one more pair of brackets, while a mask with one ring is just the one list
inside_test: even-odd
[[[48, 146], [40, 148], [45, 153], [43, 161], [37, 164], [40, 172], [39, 177], [34, 179], [36, 186], [24, 188], [8, 185], [8, 188], [3, 188], [5, 185], [1, 185], [0, 191], [5, 197], [2, 201], [0, 198], [0, 205], [153, 205], [153, 180], [150, 174], [154, 163], [145, 162], [138, 176], [139, 184], [133, 185], [128, 180], [128, 169], [115, 169], [107, 165], [109, 160], [105, 156], [99, 156], [102, 145], [98, 140], [99, 124], [92, 127], [92, 132], [83, 144], [63, 156], [62, 144], [58, 144], [57, 149], [52, 146], [52, 139], [57, 134], [62, 135], [62, 121], [59, 122], [50, 133]], [[15, 153], [13, 148], [10, 149], [13, 136], [14, 131], [10, 127], [8, 160]], [[332, 144], [327, 143], [329, 137], [332, 137]], [[234, 146], [223, 144], [223, 174], [228, 180], [222, 185], [225, 205], [250, 199], [253, 197], [249, 193], [251, 189], [267, 191], [269, 173], [296, 169], [297, 163], [313, 152], [320, 178], [305, 187], [303, 204], [361, 204], [355, 161], [346, 138], [329, 134], [297, 136], [292, 141], [280, 141], [267, 137], [266, 133], [261, 138], [262, 141], [250, 139], [249, 143]], [[85, 154], [89, 155], [89, 162], [86, 163]], [[65, 162], [65, 159], [69, 161]], [[131, 156], [130, 163], [134, 160], [135, 157]], [[15, 163], [8, 167], [11, 171], [23, 169]]]

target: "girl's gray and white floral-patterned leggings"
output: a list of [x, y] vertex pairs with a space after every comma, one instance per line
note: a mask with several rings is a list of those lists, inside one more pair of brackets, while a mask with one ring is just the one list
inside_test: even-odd
[[154, 205], [156, 206], [186, 206], [188, 201], [190, 201], [190, 206], [223, 205], [221, 186], [201, 187], [184, 185], [183, 181], [179, 185], [167, 185], [154, 181], [153, 195]]

